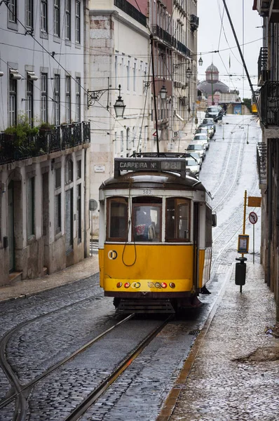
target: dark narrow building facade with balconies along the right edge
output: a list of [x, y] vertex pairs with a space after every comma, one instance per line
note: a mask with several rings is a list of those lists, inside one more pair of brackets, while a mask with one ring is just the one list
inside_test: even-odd
[[261, 188], [261, 260], [266, 283], [273, 290], [279, 321], [279, 1], [254, 0], [263, 18], [263, 46], [259, 51], [259, 116], [263, 134], [257, 145]]

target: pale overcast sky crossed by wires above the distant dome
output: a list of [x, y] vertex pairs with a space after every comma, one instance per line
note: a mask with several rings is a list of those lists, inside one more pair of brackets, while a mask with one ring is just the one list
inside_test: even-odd
[[[240, 46], [243, 44], [244, 26], [244, 58], [251, 81], [257, 85], [257, 61], [259, 49], [262, 46], [262, 20], [257, 11], [252, 11], [253, 0], [226, 0], [226, 5], [229, 8]], [[222, 28], [222, 16], [224, 16], [224, 29]], [[231, 89], [238, 89], [240, 98], [252, 98], [231, 25], [224, 10], [223, 0], [198, 0], [198, 17], [200, 18], [198, 53], [201, 53], [203, 58], [203, 66], [198, 66], [198, 79], [200, 81], [205, 79], [205, 70], [213, 62], [219, 70], [219, 80], [226, 83]], [[210, 51], [219, 51], [219, 53], [209, 53]], [[231, 69], [229, 71], [230, 57]], [[229, 78], [228, 74], [233, 74], [233, 76]], [[254, 86], [254, 90], [256, 89], [257, 86]]]

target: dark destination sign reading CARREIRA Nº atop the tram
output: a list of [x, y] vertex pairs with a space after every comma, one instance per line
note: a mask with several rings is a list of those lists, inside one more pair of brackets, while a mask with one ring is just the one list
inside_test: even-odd
[[185, 174], [185, 159], [178, 158], [116, 158], [114, 173], [121, 171], [175, 171]]

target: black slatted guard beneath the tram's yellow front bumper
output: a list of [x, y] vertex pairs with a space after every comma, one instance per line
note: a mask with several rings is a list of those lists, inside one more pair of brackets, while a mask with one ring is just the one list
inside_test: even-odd
[[116, 313], [175, 313], [170, 300], [120, 300]]

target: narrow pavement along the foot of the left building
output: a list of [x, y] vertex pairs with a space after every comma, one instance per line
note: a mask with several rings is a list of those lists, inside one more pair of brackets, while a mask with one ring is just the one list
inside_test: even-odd
[[41, 278], [15, 281], [15, 283], [10, 285], [1, 286], [0, 302], [29, 297], [44, 290], [57, 288], [57, 286], [62, 286], [65, 283], [88, 278], [97, 272], [99, 272], [98, 255], [93, 254], [92, 257], [81, 260], [76, 265], [69, 266], [60, 272]]

